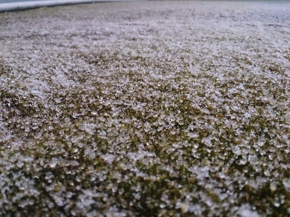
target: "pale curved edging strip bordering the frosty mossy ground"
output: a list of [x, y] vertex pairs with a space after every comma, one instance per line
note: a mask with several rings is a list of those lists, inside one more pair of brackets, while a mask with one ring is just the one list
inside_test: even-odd
[[60, 5], [86, 4], [95, 2], [131, 2], [146, 0], [46, 0], [46, 1], [29, 1], [0, 4], [0, 12], [27, 10], [41, 7], [52, 7]]

